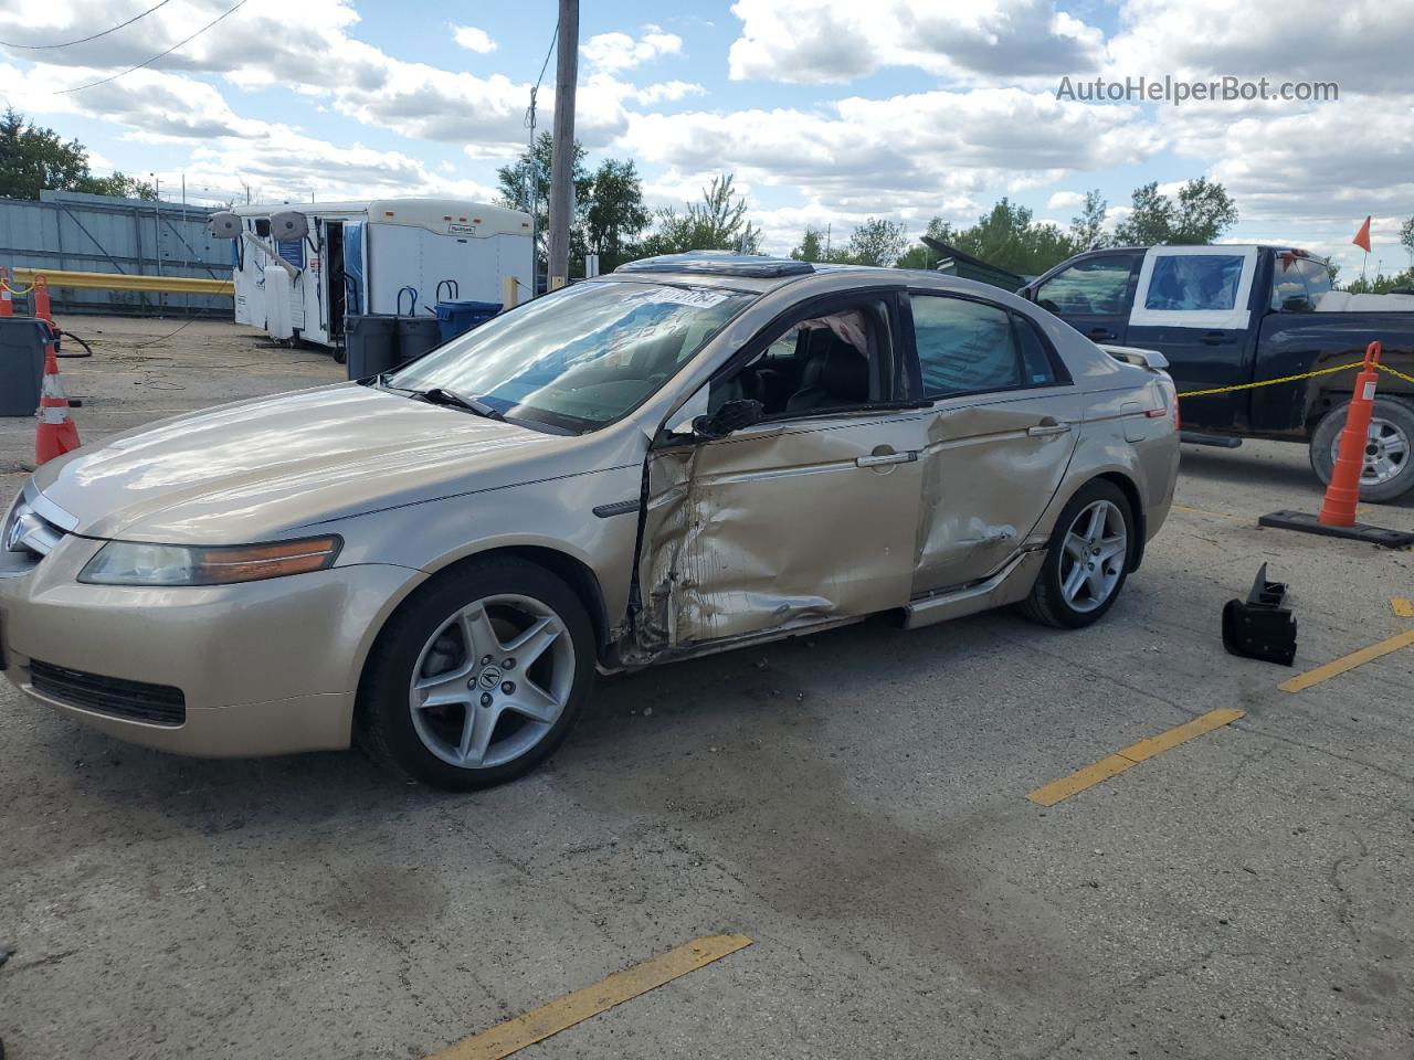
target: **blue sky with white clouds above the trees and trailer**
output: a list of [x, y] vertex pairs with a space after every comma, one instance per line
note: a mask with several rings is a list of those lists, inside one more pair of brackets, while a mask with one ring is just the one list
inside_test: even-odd
[[[191, 199], [486, 198], [526, 139], [554, 0], [45, 0], [0, 11], [0, 103], [76, 136], [96, 172]], [[1410, 0], [590, 0], [577, 131], [632, 157], [653, 204], [737, 172], [766, 245], [867, 216], [967, 223], [1001, 195], [1062, 225], [1087, 188], [1206, 174], [1241, 211], [1234, 240], [1298, 243], [1359, 269], [1414, 215]], [[1144, 75], [1336, 82], [1339, 102], [1058, 99]], [[540, 93], [550, 127], [554, 64]], [[1348, 273], [1349, 276], [1349, 273]]]

